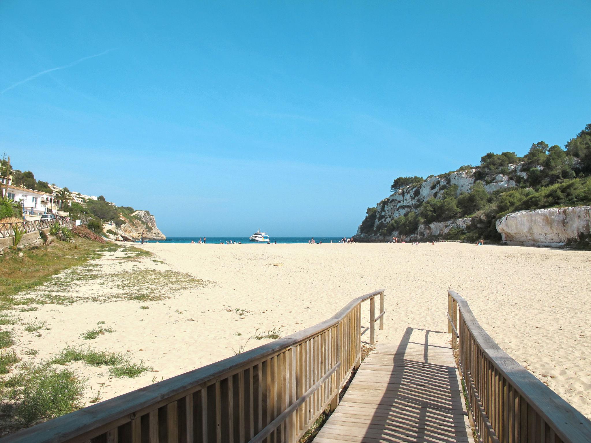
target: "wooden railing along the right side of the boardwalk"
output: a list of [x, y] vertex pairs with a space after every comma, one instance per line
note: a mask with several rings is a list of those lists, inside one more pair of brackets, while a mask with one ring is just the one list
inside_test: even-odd
[[591, 422], [509, 357], [482, 329], [466, 300], [453, 291], [448, 295], [447, 321], [481, 442], [591, 441]]

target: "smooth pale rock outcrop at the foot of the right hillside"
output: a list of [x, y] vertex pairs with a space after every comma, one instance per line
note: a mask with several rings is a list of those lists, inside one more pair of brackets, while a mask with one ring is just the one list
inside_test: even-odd
[[591, 206], [517, 211], [497, 220], [496, 230], [509, 245], [563, 246], [591, 233]]

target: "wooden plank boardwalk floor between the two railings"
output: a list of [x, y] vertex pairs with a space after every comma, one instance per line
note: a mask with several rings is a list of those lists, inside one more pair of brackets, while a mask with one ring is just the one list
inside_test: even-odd
[[376, 344], [314, 443], [473, 442], [452, 347], [425, 341]]

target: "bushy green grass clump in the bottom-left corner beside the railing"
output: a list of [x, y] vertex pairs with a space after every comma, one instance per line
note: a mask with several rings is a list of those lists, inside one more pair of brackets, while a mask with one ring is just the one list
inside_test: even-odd
[[3, 421], [15, 432], [76, 411], [83, 407], [85, 385], [70, 369], [21, 365], [18, 374], [0, 382]]

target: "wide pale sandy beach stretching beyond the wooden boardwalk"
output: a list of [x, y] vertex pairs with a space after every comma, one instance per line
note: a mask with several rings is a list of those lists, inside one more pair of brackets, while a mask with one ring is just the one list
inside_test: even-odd
[[[37, 361], [67, 345], [109, 348], [153, 368], [129, 379], [71, 363], [104, 400], [270, 341], [249, 339], [261, 331], [309, 327], [380, 288], [387, 314], [378, 341], [397, 344], [411, 333], [446, 342], [446, 291], [455, 289], [499, 346], [591, 418], [591, 252], [460, 243], [135, 246], [154, 255], [111, 252], [22, 295], [50, 304], [15, 311], [46, 329], [12, 326], [14, 350]], [[99, 321], [114, 331], [80, 337]], [[31, 348], [38, 354], [27, 357]]]

